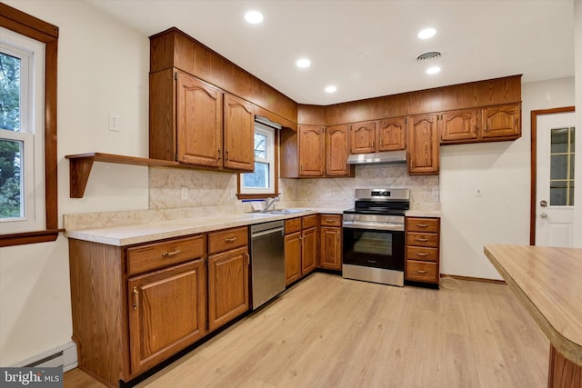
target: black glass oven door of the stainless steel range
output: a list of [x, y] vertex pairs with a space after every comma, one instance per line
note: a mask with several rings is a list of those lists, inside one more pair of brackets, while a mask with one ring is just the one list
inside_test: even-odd
[[344, 227], [343, 264], [404, 272], [404, 231]]

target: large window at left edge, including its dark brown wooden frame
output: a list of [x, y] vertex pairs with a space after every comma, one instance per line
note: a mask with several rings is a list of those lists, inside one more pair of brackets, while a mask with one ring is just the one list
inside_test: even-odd
[[0, 246], [54, 241], [58, 28], [0, 14]]

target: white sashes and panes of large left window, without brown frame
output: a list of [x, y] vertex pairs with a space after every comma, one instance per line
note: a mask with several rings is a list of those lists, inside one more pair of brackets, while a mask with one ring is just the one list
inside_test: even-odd
[[45, 228], [45, 45], [0, 29], [0, 231]]

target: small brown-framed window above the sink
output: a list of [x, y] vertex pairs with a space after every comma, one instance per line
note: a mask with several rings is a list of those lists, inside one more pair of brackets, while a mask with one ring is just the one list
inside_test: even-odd
[[265, 198], [276, 195], [276, 154], [276, 130], [255, 123], [255, 171], [239, 175], [239, 198]]

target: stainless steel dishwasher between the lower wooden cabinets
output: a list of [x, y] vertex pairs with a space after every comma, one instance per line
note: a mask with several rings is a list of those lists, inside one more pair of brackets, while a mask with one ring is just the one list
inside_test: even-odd
[[253, 310], [285, 290], [284, 222], [251, 225]]

